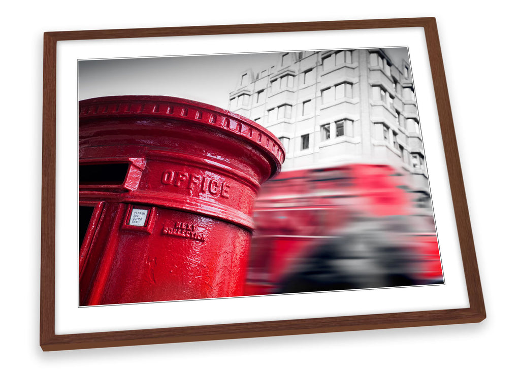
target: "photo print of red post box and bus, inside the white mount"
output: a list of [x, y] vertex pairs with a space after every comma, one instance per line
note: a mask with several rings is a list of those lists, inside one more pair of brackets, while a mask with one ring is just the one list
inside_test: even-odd
[[80, 306], [444, 284], [407, 47], [80, 60]]

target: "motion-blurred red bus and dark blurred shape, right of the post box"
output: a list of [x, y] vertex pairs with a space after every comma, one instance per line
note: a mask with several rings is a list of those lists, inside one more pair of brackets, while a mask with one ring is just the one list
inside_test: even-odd
[[433, 211], [404, 175], [349, 164], [282, 172], [256, 202], [246, 295], [441, 284]]

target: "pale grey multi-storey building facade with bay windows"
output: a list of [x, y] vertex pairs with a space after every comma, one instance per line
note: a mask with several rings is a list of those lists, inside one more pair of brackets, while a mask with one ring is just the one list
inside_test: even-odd
[[[283, 170], [384, 163], [407, 176], [418, 209], [430, 189], [410, 65], [385, 49], [298, 51], [241, 72], [230, 111], [263, 125], [287, 153]], [[395, 55], [395, 54], [394, 54]]]

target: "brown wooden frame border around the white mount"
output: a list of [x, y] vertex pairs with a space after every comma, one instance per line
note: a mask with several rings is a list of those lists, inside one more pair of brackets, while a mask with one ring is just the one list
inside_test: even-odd
[[[55, 333], [57, 42], [83, 39], [423, 28], [470, 307], [129, 331]], [[435, 18], [92, 30], [44, 34], [40, 345], [44, 351], [480, 322], [486, 317]], [[59, 233], [58, 233], [59, 234]]]

